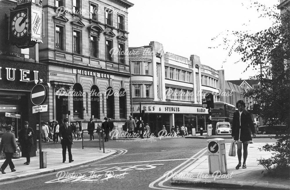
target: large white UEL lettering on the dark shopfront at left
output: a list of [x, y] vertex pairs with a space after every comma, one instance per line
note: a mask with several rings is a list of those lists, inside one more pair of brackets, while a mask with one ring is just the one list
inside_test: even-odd
[[[38, 70], [26, 70], [26, 69], [16, 69], [16, 68], [2, 68], [0, 67], [0, 80], [3, 80], [6, 78], [8, 81], [14, 81], [15, 76], [19, 74], [21, 82], [27, 82], [30, 80], [38, 79]], [[6, 74], [6, 77], [4, 76]], [[34, 78], [30, 78], [31, 76], [34, 76]]]

